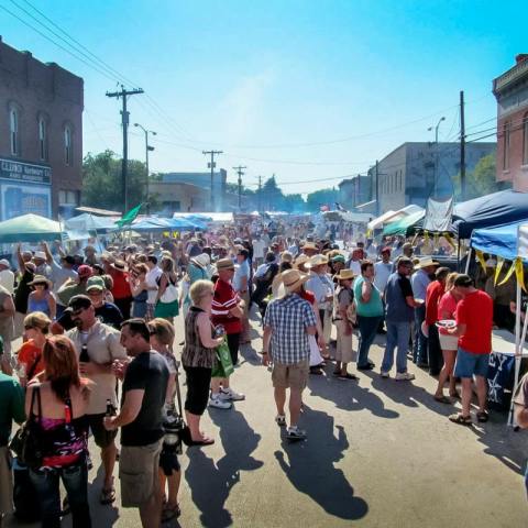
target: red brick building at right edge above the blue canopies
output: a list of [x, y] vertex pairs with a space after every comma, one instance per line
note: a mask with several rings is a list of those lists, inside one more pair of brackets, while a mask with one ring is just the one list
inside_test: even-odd
[[528, 193], [528, 54], [494, 79], [497, 100], [497, 182]]

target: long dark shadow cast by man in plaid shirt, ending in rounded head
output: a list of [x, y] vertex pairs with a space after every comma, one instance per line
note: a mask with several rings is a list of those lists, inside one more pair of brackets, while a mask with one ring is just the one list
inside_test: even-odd
[[[283, 440], [283, 451], [275, 451], [280, 469], [297, 491], [308, 495], [330, 515], [341, 519], [361, 519], [369, 505], [354, 496], [354, 490], [342, 470], [334, 466], [349, 448], [346, 435], [333, 417], [305, 406], [304, 421], [308, 424], [308, 440]], [[309, 524], [309, 522], [308, 522]]]

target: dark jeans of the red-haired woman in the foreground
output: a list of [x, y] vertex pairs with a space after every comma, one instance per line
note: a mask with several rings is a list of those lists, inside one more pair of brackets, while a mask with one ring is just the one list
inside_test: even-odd
[[86, 461], [68, 468], [30, 470], [30, 479], [41, 504], [43, 528], [61, 528], [59, 479], [68, 495], [74, 528], [91, 528], [88, 507], [88, 469]]

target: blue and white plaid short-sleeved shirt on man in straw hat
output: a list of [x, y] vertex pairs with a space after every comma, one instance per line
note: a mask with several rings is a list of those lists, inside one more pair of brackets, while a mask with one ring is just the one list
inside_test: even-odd
[[297, 294], [274, 299], [267, 305], [264, 327], [272, 329], [273, 361], [292, 365], [310, 356], [306, 329], [316, 326], [311, 305]]

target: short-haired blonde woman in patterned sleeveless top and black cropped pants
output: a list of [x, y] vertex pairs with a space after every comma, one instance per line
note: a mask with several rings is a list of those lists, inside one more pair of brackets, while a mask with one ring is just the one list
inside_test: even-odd
[[197, 280], [189, 290], [191, 307], [185, 318], [185, 345], [182, 364], [187, 377], [185, 414], [191, 443], [210, 446], [215, 442], [200, 431], [200, 418], [209, 398], [211, 372], [216, 363], [216, 348], [223, 337], [213, 338], [211, 305], [215, 285], [210, 280]]

